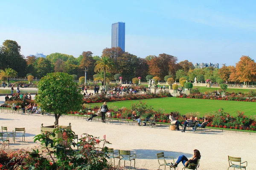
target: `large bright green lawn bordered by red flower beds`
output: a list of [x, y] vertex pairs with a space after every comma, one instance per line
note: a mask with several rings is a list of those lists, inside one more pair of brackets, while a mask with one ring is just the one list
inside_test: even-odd
[[[131, 108], [131, 103], [138, 102], [133, 101], [121, 101], [121, 102], [108, 102], [109, 108]], [[245, 115], [256, 115], [254, 111], [256, 102], [239, 102], [239, 101], [224, 101], [224, 100], [207, 100], [207, 99], [186, 99], [176, 97], [166, 97], [157, 99], [144, 99], [141, 100], [147, 102], [147, 105], [152, 105], [154, 109], [163, 108], [166, 113], [171, 111], [179, 111], [181, 114], [189, 112], [199, 112], [201, 116], [205, 113], [212, 113], [218, 111], [220, 108], [224, 108], [225, 112], [231, 115], [236, 115], [236, 111], [243, 111]], [[90, 105], [102, 105], [102, 104], [90, 104]]]

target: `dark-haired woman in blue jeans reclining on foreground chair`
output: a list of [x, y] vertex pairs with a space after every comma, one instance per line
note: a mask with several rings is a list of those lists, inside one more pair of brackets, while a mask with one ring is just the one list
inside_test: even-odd
[[198, 159], [201, 159], [201, 154], [199, 152], [199, 150], [195, 149], [194, 150], [194, 156], [191, 159], [187, 159], [186, 156], [181, 155], [179, 156], [179, 158], [177, 159], [177, 161], [175, 162], [175, 164], [172, 164], [172, 167], [177, 167], [177, 165], [182, 162], [184, 167], [188, 167], [188, 162], [189, 163], [193, 163], [193, 164], [197, 164]]

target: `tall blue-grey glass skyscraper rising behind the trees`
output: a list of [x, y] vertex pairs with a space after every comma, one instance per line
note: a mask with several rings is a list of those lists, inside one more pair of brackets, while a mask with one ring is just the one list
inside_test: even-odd
[[125, 51], [125, 23], [113, 23], [111, 32], [111, 47], [120, 47]]

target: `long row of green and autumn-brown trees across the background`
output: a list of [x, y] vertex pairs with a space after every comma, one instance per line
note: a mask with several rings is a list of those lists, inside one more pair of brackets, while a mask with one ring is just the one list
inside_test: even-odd
[[[134, 77], [141, 77], [141, 81], [146, 81], [153, 77], [158, 77], [160, 81], [167, 81], [173, 78], [179, 81], [185, 77], [188, 81], [194, 82], [197, 77], [198, 82], [249, 82], [256, 81], [256, 63], [248, 56], [242, 56], [235, 66], [220, 68], [195, 68], [188, 60], [177, 62], [178, 59], [170, 54], [150, 55], [145, 58], [137, 57], [121, 48], [105, 48], [102, 57], [93, 56], [91, 51], [83, 51], [79, 57], [68, 54], [52, 53], [46, 58], [27, 56], [20, 54], [20, 45], [13, 40], [5, 40], [0, 46], [0, 70], [12, 68], [17, 71], [18, 77], [26, 77], [27, 74], [34, 77], [44, 77], [47, 73], [64, 72], [75, 75], [76, 79], [84, 76], [84, 69], [87, 68], [87, 79], [100, 79], [99, 69], [95, 69], [96, 62], [102, 57], [112, 60], [114, 68], [110, 73], [106, 72], [107, 78], [132, 80]], [[96, 72], [97, 71], [97, 72]], [[115, 77], [113, 75], [116, 75]]]

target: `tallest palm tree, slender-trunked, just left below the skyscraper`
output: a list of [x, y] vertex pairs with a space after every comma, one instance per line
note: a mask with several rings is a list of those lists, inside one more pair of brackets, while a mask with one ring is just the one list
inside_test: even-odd
[[101, 59], [97, 60], [95, 63], [94, 71], [103, 71], [104, 72], [104, 85], [106, 85], [106, 72], [111, 72], [115, 70], [115, 64], [113, 60], [109, 57], [102, 57]]

